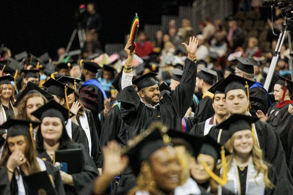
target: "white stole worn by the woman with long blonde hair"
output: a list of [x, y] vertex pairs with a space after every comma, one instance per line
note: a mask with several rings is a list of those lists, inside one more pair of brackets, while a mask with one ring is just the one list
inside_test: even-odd
[[[222, 168], [221, 168], [222, 172]], [[250, 157], [248, 163], [247, 177], [246, 177], [246, 193], [241, 194], [240, 179], [238, 173], [238, 167], [236, 165], [235, 159], [233, 159], [232, 166], [227, 174], [228, 182], [224, 187], [230, 191], [234, 191], [235, 194], [240, 195], [264, 195], [265, 194], [265, 184], [263, 182], [263, 173], [259, 173], [257, 177], [255, 175], [257, 171], [254, 168], [252, 158]], [[219, 185], [219, 194], [222, 191], [222, 187]]]

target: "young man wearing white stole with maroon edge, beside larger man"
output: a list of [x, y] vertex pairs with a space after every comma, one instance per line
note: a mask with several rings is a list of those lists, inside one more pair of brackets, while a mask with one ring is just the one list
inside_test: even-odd
[[199, 137], [203, 137], [209, 133], [209, 130], [224, 121], [228, 116], [228, 110], [225, 104], [225, 94], [221, 91], [217, 90], [217, 86], [219, 83], [224, 80], [223, 78], [218, 81], [214, 86], [209, 88], [209, 92], [214, 94], [212, 106], [214, 108], [215, 114], [201, 123], [196, 124], [191, 130], [190, 135], [195, 135]]

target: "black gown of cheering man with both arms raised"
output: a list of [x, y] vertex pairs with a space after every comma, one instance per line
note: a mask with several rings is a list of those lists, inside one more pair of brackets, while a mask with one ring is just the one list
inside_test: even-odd
[[120, 91], [117, 101], [121, 102], [121, 116], [130, 127], [127, 139], [133, 138], [142, 129], [147, 129], [154, 121], [162, 121], [166, 126], [181, 131], [182, 118], [193, 99], [196, 72], [197, 65], [186, 59], [180, 84], [169, 95], [164, 94], [155, 109], [140, 101], [133, 86], [127, 86]]

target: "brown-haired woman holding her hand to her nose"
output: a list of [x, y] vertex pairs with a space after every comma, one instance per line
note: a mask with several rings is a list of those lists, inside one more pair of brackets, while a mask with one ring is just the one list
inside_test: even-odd
[[[8, 129], [0, 163], [0, 194], [28, 195], [28, 186], [25, 184], [23, 177], [47, 171], [57, 194], [65, 195], [57, 168], [37, 157], [32, 128], [38, 125], [38, 122], [9, 119], [0, 126], [0, 128]], [[42, 179], [40, 178], [40, 181]], [[40, 181], [35, 181], [35, 185], [38, 185]], [[50, 183], [47, 185], [50, 185]]]

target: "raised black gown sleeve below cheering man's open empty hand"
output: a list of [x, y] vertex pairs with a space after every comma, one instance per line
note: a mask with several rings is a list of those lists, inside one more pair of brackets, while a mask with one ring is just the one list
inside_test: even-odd
[[197, 65], [189, 60], [185, 60], [184, 71], [180, 79], [180, 84], [173, 90], [170, 95], [178, 115], [183, 118], [193, 100], [197, 74]]

